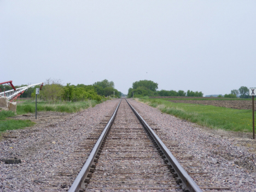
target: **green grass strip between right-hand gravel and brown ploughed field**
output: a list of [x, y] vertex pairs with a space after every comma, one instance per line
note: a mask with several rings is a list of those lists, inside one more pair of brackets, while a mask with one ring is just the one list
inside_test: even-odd
[[[168, 98], [170, 100], [170, 98]], [[231, 109], [191, 103], [172, 103], [161, 98], [142, 98], [161, 112], [213, 129], [252, 132], [252, 110]]]

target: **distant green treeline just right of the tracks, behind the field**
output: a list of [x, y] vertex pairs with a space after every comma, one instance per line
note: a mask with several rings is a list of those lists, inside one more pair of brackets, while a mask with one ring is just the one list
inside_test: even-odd
[[138, 82], [132, 83], [132, 88], [128, 90], [128, 97], [144, 97], [144, 96], [188, 96], [188, 97], [202, 97], [203, 94], [200, 91], [190, 91], [187, 92], [183, 90], [161, 90], [157, 91], [158, 83], [152, 80], [139, 80]]

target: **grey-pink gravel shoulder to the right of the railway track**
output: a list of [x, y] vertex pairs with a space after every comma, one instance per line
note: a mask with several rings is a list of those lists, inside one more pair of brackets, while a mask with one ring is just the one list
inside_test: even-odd
[[201, 162], [203, 171], [211, 176], [207, 182], [231, 189], [221, 191], [256, 191], [254, 139], [227, 137], [229, 134], [224, 131], [200, 127], [132, 99], [129, 102], [153, 129], [158, 130], [156, 133], [161, 139], [177, 141], [179, 147]]

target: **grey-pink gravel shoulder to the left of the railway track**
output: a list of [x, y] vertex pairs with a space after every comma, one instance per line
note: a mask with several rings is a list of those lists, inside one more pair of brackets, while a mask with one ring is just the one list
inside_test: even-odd
[[0, 159], [21, 160], [0, 161], [0, 191], [67, 191], [89, 155], [78, 155], [79, 143], [113, 114], [118, 102], [106, 101], [73, 114], [40, 112], [37, 120], [33, 114], [15, 117], [37, 124], [0, 137]]

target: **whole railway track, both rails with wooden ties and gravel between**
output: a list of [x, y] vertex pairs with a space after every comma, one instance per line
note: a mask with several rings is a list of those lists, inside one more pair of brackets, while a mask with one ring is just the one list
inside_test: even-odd
[[136, 113], [120, 101], [69, 191], [201, 191]]

